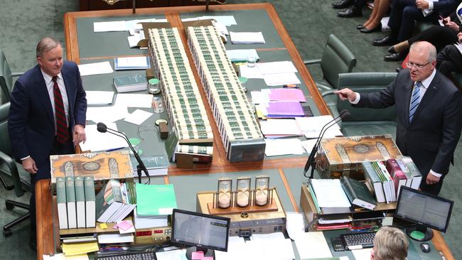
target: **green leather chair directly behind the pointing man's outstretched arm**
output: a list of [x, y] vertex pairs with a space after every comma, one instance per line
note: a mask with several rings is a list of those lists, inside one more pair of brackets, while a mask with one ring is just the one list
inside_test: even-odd
[[[338, 88], [345, 87], [359, 93], [376, 92], [387, 87], [397, 73], [395, 72], [353, 72], [342, 73], [338, 77]], [[335, 104], [328, 104], [333, 117], [343, 109], [348, 109], [350, 117], [343, 119], [340, 126], [344, 136], [367, 136], [379, 134], [391, 134], [396, 138], [396, 108], [395, 106], [386, 109], [370, 109], [351, 106], [348, 100], [340, 100], [335, 90], [325, 92], [323, 97], [335, 98]]]

